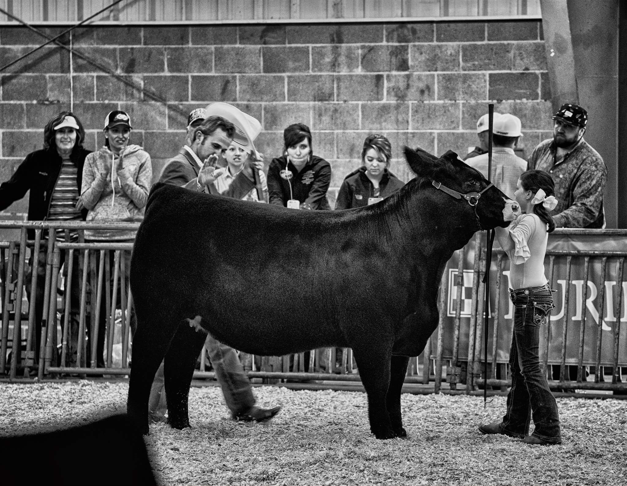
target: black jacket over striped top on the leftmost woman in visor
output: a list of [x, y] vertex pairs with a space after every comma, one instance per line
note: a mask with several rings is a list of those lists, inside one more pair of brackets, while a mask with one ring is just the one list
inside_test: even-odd
[[[85, 164], [85, 157], [89, 153], [90, 151], [86, 149], [75, 147], [70, 156], [71, 161], [78, 169], [76, 188], [79, 194], [83, 182], [83, 164]], [[28, 197], [29, 221], [43, 221], [48, 218], [52, 191], [55, 189], [56, 181], [59, 178], [62, 162], [56, 147], [28, 154], [24, 161], [19, 164], [11, 179], [0, 184], [0, 211], [23, 198], [26, 191], [30, 190]], [[87, 209], [81, 211], [81, 216], [84, 221], [87, 216]], [[34, 238], [34, 231], [29, 230], [28, 237]]]

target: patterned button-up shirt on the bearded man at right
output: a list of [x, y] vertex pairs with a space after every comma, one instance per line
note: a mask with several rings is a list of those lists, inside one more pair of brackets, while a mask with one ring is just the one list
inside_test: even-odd
[[556, 162], [553, 139], [544, 140], [529, 157], [529, 169], [549, 172], [555, 182], [557, 207], [552, 212], [559, 228], [604, 228], [603, 192], [608, 167], [584, 139]]

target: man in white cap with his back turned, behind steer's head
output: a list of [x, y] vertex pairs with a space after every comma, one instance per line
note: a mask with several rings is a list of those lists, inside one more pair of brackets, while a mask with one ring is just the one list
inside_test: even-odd
[[[508, 198], [514, 199], [516, 182], [520, 174], [527, 170], [527, 161], [516, 156], [514, 146], [522, 137], [522, 124], [519, 117], [506, 113], [495, 113], [492, 125], [492, 176], [490, 181], [503, 191]], [[488, 132], [485, 132], [489, 134]], [[475, 167], [488, 177], [488, 154], [466, 159], [466, 164]]]

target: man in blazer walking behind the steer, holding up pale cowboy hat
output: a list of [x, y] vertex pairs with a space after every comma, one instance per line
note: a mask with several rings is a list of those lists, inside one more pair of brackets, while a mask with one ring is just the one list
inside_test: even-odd
[[[198, 124], [199, 120], [202, 121]], [[253, 170], [258, 170], [257, 166], [261, 164], [258, 159], [262, 159], [262, 156], [255, 151], [253, 140], [260, 132], [261, 124], [258, 120], [228, 103], [212, 103], [204, 110], [197, 108], [187, 118], [187, 144], [167, 162], [160, 182], [217, 194], [213, 182], [226, 169], [216, 169], [215, 164], [233, 142], [246, 151], [255, 152], [254, 158], [257, 159], [247, 162], [229, 188], [222, 193], [223, 196], [241, 199], [255, 187]], [[222, 388], [224, 401], [234, 420], [263, 422], [277, 415], [281, 409], [279, 406], [265, 409], [255, 405], [250, 381], [233, 348], [216, 341], [210, 334], [207, 335], [205, 346]], [[162, 363], [150, 389], [149, 416], [153, 421], [164, 420], [166, 411], [163, 366]]]

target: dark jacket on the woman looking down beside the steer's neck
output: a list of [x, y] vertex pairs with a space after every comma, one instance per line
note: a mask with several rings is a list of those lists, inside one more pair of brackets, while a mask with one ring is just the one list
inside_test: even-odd
[[[387, 169], [379, 182], [379, 198], [387, 198], [404, 186], [404, 182]], [[374, 197], [374, 185], [366, 176], [366, 167], [361, 166], [344, 178], [337, 193], [335, 209], [361, 208], [368, 205], [368, 198]]]

